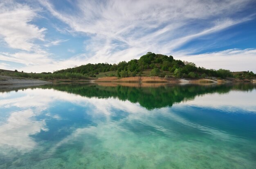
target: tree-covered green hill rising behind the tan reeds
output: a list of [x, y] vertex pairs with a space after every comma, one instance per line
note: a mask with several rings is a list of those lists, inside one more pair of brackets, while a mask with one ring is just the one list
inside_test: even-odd
[[121, 61], [118, 64], [86, 64], [75, 68], [58, 70], [58, 73], [79, 73], [90, 77], [132, 77], [132, 76], [173, 76], [187, 78], [205, 78], [205, 77], [236, 77], [239, 79], [255, 78], [253, 72], [241, 72], [234, 74], [229, 70], [206, 69], [197, 67], [194, 63], [173, 59], [173, 56], [161, 55], [148, 52], [139, 59], [132, 59], [128, 62]]

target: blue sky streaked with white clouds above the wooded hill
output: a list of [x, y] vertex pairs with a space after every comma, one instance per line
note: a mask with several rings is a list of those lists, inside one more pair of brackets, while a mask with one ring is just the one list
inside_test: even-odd
[[0, 0], [0, 69], [53, 72], [147, 52], [256, 73], [255, 0]]

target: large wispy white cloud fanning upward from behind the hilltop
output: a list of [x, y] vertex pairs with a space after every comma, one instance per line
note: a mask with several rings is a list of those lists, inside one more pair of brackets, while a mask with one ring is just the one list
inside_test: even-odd
[[249, 0], [76, 1], [72, 4], [76, 13], [58, 11], [46, 0], [40, 2], [72, 31], [90, 36], [85, 41], [90, 53], [87, 63], [128, 61], [148, 51], [172, 54], [190, 40], [252, 19], [231, 17]]

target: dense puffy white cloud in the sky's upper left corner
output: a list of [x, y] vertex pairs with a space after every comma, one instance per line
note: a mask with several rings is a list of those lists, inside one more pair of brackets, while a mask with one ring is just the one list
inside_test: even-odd
[[26, 4], [2, 2], [0, 4], [0, 36], [11, 48], [33, 50], [33, 40], [44, 40], [45, 28], [30, 22], [37, 17], [36, 10]]

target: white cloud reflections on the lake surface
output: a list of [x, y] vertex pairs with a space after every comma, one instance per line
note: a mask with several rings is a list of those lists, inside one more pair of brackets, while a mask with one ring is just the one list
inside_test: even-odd
[[[223, 107], [229, 106], [229, 108], [232, 110], [239, 109], [255, 112], [255, 105], [253, 104], [253, 101], [255, 100], [254, 98], [256, 96], [255, 92], [256, 90], [253, 90], [249, 93], [230, 91], [228, 95], [228, 103], [227, 101], [224, 101], [227, 100], [227, 96], [225, 94], [207, 94], [203, 96], [198, 96], [192, 101], [187, 101], [185, 104], [222, 110]], [[34, 135], [41, 130], [47, 131], [48, 129], [45, 120], [37, 120], [35, 117], [42, 115], [42, 113], [45, 113], [45, 111], [43, 110], [47, 110], [55, 101], [68, 102], [76, 106], [88, 108], [88, 115], [90, 115], [94, 123], [98, 124], [97, 128], [89, 127], [84, 129], [76, 129], [70, 136], [67, 136], [67, 138], [64, 138], [59, 143], [57, 143], [56, 146], [62, 145], [63, 143], [72, 140], [72, 138], [75, 138], [76, 136], [87, 132], [91, 134], [96, 134], [96, 136], [99, 137], [103, 135], [105, 136], [104, 132], [102, 132], [105, 131], [103, 130], [103, 128], [108, 128], [111, 131], [113, 131], [114, 128], [118, 128], [119, 132], [124, 131], [125, 129], [122, 129], [122, 127], [120, 127], [120, 124], [123, 123], [122, 120], [115, 121], [115, 123], [113, 123], [111, 119], [111, 117], [113, 116], [113, 109], [129, 112], [129, 114], [127, 114], [127, 116], [125, 117], [125, 121], [128, 121], [130, 123], [139, 122], [144, 125], [155, 127], [155, 129], [158, 129], [161, 132], [166, 132], [166, 129], [163, 126], [159, 125], [159, 123], [157, 123], [157, 121], [159, 120], [157, 120], [157, 116], [164, 116], [166, 119], [170, 119], [170, 121], [175, 121], [177, 123], [182, 123], [183, 125], [188, 125], [202, 131], [207, 131], [208, 133], [217, 136], [218, 139], [230, 137], [230, 135], [226, 132], [215, 130], [211, 127], [188, 121], [187, 119], [182, 118], [179, 114], [176, 114], [172, 111], [173, 108], [182, 108], [184, 103], [175, 104], [173, 105], [173, 108], [162, 108], [160, 110], [154, 109], [148, 111], [145, 108], [141, 107], [139, 103], [121, 101], [116, 98], [87, 98], [79, 96], [77, 94], [61, 92], [54, 89], [26, 89], [22, 91], [19, 90], [18, 95], [15, 91], [13, 91], [9, 92], [8, 94], [0, 94], [0, 97], [1, 108], [9, 108], [9, 110], [11, 110], [11, 108], [15, 107], [15, 109], [20, 110], [18, 112], [11, 112], [7, 120], [2, 121], [2, 123], [0, 124], [0, 149], [10, 150], [11, 148], [14, 148], [18, 151], [25, 153], [34, 148], [37, 148], [37, 144], [35, 140], [31, 137], [31, 135]], [[209, 103], [209, 101], [206, 101], [209, 100], [209, 98], [212, 101], [211, 103]], [[74, 107], [75, 106], [73, 106], [72, 108]], [[47, 112], [45, 115], [58, 120], [61, 120], [62, 118], [61, 114], [55, 114], [54, 112]], [[102, 116], [106, 117], [106, 122], [104, 123], [102, 123], [101, 118], [99, 118]], [[168, 133], [168, 131], [166, 133]], [[54, 146], [52, 148], [55, 149], [56, 147]], [[53, 149], [50, 149], [49, 151], [52, 152]], [[9, 153], [8, 151], [1, 151], [1, 153], [4, 152]]]

